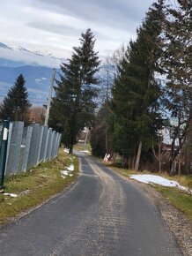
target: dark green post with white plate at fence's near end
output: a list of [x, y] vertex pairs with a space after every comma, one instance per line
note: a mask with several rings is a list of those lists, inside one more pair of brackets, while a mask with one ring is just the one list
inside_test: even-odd
[[4, 170], [6, 166], [9, 125], [10, 125], [10, 121], [5, 120], [3, 122], [2, 140], [1, 140], [1, 146], [0, 146], [0, 189], [4, 188]]

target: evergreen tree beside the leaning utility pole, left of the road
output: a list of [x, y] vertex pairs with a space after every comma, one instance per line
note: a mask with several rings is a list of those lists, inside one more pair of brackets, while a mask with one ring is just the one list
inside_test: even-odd
[[61, 65], [60, 80], [55, 87], [55, 99], [51, 104], [50, 124], [63, 133], [63, 143], [70, 148], [78, 141], [79, 132], [92, 123], [99, 83], [95, 74], [99, 71], [98, 52], [94, 51], [91, 29], [81, 34], [80, 46], [73, 48], [67, 63]]

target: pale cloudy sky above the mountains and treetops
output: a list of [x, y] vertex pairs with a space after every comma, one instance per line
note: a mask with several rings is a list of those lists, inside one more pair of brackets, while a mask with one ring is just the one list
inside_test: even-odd
[[107, 56], [136, 36], [152, 0], [2, 0], [0, 41], [11, 47], [70, 57], [81, 32], [91, 28]]

